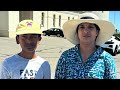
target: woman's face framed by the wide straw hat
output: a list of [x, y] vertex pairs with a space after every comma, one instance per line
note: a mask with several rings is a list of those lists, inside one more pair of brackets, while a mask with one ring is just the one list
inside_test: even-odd
[[99, 31], [92, 23], [81, 23], [78, 27], [78, 38], [80, 43], [95, 43], [95, 39], [98, 36]]

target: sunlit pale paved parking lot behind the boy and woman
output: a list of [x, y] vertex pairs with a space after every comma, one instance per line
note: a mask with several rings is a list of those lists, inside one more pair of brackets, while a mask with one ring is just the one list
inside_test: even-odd
[[[43, 36], [40, 45], [36, 52], [37, 54], [48, 60], [51, 65], [52, 79], [54, 78], [55, 67], [61, 53], [68, 48], [73, 47], [69, 41], [62, 37]], [[15, 42], [15, 38], [0, 37], [0, 60], [16, 54], [21, 51], [21, 48]], [[117, 74], [120, 79], [120, 54], [114, 57], [117, 65]]]

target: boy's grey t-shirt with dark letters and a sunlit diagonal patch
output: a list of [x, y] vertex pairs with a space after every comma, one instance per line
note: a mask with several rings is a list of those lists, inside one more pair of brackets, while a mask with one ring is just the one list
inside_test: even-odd
[[51, 79], [50, 64], [39, 56], [29, 60], [16, 54], [0, 64], [0, 79]]

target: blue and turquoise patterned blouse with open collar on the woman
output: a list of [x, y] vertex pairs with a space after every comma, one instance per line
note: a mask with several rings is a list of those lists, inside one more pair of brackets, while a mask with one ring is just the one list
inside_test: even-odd
[[115, 61], [112, 55], [98, 47], [83, 63], [78, 44], [62, 53], [55, 79], [116, 79]]

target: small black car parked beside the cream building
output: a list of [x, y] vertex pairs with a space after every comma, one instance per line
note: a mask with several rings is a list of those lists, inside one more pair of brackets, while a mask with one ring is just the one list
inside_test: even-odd
[[42, 33], [44, 36], [56, 35], [57, 37], [60, 37], [60, 36], [64, 37], [62, 29], [59, 29], [59, 28], [50, 28], [42, 31]]

